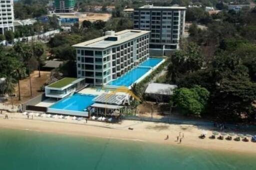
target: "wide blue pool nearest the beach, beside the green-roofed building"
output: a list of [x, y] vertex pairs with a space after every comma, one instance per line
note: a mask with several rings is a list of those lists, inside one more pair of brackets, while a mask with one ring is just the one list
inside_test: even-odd
[[83, 95], [76, 93], [70, 97], [59, 100], [49, 108], [83, 112], [84, 109], [93, 103], [92, 99], [94, 97], [95, 96], [93, 95]]

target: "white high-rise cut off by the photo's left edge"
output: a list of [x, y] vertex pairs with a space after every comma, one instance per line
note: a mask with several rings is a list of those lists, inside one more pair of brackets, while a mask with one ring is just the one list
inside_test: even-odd
[[6, 30], [14, 30], [13, 0], [0, 0], [0, 34]]

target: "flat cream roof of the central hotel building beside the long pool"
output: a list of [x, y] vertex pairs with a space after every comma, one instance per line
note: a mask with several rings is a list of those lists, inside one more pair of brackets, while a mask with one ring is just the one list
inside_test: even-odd
[[[72, 45], [73, 47], [86, 47], [86, 48], [107, 48], [113, 45], [118, 45], [120, 43], [123, 43], [125, 41], [132, 40], [140, 35], [144, 35], [146, 33], [149, 33], [150, 31], [144, 31], [144, 30], [133, 30], [133, 29], [126, 29], [119, 32], [114, 31], [108, 31], [113, 32], [113, 35], [105, 35], [101, 36], [99, 38], [95, 38], [89, 41], [81, 42], [75, 45]], [[110, 40], [108, 37], [115, 37], [116, 40]]]

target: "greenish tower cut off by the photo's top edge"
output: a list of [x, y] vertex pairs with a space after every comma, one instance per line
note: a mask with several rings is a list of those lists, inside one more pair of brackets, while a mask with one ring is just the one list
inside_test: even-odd
[[54, 0], [55, 12], [73, 12], [75, 0]]

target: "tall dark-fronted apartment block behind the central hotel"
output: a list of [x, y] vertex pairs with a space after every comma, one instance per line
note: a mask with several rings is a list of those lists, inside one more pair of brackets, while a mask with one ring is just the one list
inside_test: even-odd
[[185, 10], [181, 6], [144, 5], [133, 12], [133, 28], [150, 30], [151, 50], [171, 51], [179, 48], [184, 35]]

